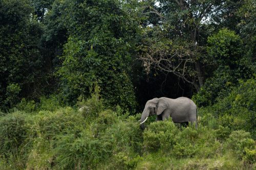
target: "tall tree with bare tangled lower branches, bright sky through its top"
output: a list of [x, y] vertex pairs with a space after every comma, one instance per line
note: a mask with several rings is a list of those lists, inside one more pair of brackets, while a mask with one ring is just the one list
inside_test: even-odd
[[[158, 23], [149, 25], [141, 44], [140, 59], [147, 69], [152, 67], [172, 72], [199, 90], [204, 83], [209, 26], [230, 11], [232, 1], [157, 1], [148, 5], [144, 14], [158, 16]], [[149, 4], [152, 4], [150, 1]]]

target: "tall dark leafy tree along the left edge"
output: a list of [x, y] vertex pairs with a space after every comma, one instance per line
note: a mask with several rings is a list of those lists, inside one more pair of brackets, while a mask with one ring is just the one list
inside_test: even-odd
[[[42, 56], [39, 39], [42, 27], [33, 17], [27, 0], [0, 2], [0, 96], [10, 106], [9, 95], [40, 95]], [[14, 90], [14, 91], [13, 91]], [[16, 91], [15, 91], [16, 90]]]

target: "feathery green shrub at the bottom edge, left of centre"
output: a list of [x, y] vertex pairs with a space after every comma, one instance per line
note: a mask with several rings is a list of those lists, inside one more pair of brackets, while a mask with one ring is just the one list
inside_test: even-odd
[[83, 130], [79, 136], [60, 137], [55, 149], [57, 168], [91, 169], [108, 156], [110, 144], [94, 138], [90, 129]]

